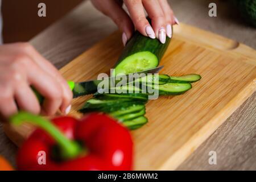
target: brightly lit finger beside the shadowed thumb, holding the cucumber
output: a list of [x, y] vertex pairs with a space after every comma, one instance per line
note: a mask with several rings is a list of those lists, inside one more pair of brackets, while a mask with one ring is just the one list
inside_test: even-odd
[[125, 5], [130, 13], [131, 20], [133, 20], [135, 28], [141, 32], [144, 36], [149, 36], [152, 39], [155, 39], [155, 32], [152, 29], [150, 23], [146, 19], [144, 14], [144, 7], [141, 0], [124, 0]]

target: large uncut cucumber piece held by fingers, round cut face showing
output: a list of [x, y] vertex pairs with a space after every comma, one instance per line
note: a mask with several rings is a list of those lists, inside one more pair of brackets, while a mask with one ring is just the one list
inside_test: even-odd
[[166, 36], [166, 43], [162, 44], [158, 39], [148, 38], [136, 31], [119, 56], [112, 76], [157, 67], [170, 41], [171, 39]]

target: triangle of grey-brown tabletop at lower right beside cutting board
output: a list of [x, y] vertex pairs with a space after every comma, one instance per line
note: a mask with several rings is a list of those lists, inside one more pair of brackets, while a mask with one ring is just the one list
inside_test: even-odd
[[[178, 170], [256, 169], [256, 93], [193, 152]], [[227, 150], [230, 148], [230, 150]], [[217, 164], [209, 165], [209, 151], [216, 151]]]

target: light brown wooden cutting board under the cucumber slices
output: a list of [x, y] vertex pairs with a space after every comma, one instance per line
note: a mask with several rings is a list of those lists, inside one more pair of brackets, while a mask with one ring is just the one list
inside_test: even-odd
[[[84, 81], [108, 73], [122, 51], [115, 32], [60, 70], [67, 80]], [[185, 24], [160, 65], [161, 73], [198, 73], [201, 81], [181, 96], [160, 97], [146, 105], [147, 125], [132, 131], [137, 170], [175, 169], [256, 90], [256, 51], [236, 41]], [[73, 100], [72, 115], [91, 96]], [[25, 125], [5, 127], [20, 144], [31, 133]], [[15, 132], [15, 133], [14, 133]]]

